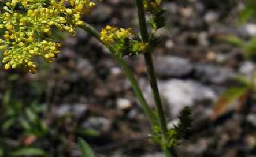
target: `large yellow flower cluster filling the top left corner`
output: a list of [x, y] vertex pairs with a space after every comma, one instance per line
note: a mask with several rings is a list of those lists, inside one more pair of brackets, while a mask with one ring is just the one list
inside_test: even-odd
[[12, 0], [0, 8], [0, 50], [6, 70], [22, 65], [34, 73], [34, 56], [51, 62], [60, 44], [51, 41], [51, 28], [75, 35], [81, 16], [95, 4], [91, 0]]

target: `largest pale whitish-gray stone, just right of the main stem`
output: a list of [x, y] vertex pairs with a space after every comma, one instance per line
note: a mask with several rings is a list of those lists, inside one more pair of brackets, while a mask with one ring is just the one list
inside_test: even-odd
[[213, 102], [217, 96], [213, 89], [192, 80], [177, 80], [159, 82], [159, 91], [170, 106], [170, 113], [178, 117], [185, 106], [193, 106], [195, 102]]

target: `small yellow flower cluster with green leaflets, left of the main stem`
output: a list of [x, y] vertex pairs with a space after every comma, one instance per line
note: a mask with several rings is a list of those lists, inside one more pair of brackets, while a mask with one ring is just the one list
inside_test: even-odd
[[101, 30], [101, 40], [114, 50], [114, 55], [138, 55], [146, 51], [148, 44], [135, 38], [131, 28], [116, 28], [109, 25]]

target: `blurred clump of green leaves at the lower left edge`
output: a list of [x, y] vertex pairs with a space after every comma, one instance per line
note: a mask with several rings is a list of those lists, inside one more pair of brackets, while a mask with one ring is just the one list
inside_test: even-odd
[[24, 106], [17, 100], [11, 100], [9, 91], [4, 93], [2, 102], [4, 114], [1, 115], [1, 129], [3, 132], [8, 132], [17, 124], [24, 129], [25, 134], [42, 136], [47, 132], [47, 125], [38, 117], [39, 113], [45, 109], [44, 107], [37, 103]]

